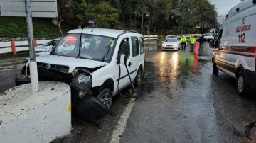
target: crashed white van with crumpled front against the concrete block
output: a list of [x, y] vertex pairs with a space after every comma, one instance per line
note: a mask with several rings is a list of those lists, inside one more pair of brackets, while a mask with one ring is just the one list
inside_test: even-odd
[[[36, 57], [39, 81], [70, 84], [74, 102], [95, 96], [108, 108], [112, 97], [127, 86], [142, 83], [143, 36], [133, 30], [84, 28], [70, 30], [50, 55]], [[30, 82], [28, 66], [16, 85]], [[77, 100], [77, 101], [76, 101]]]

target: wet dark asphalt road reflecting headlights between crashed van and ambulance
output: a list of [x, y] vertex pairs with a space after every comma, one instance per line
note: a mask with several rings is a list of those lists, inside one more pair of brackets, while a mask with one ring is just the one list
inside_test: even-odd
[[[241, 98], [235, 79], [222, 72], [212, 74], [212, 52], [208, 43], [200, 52], [188, 47], [146, 51], [139, 98], [119, 142], [250, 142], [244, 127], [256, 121], [256, 98]], [[0, 69], [0, 90], [14, 86], [13, 78], [21, 67], [17, 68]], [[123, 91], [130, 92], [129, 88]], [[124, 102], [122, 96], [115, 98], [112, 110], [116, 115], [100, 118], [100, 127], [73, 118], [71, 134], [55, 142], [110, 141]], [[251, 134], [256, 142], [255, 128]]]

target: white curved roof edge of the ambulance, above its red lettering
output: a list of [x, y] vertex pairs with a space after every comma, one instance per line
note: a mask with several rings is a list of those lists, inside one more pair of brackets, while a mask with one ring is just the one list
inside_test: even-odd
[[242, 1], [233, 8], [228, 11], [228, 14], [226, 15], [226, 18], [229, 18], [231, 16], [234, 16], [236, 13], [239, 11], [245, 10], [246, 8], [249, 8], [250, 6], [253, 6], [253, 0], [247, 0], [247, 1]]

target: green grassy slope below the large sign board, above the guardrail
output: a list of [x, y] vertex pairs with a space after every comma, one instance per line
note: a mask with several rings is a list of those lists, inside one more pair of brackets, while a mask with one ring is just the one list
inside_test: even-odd
[[[32, 18], [34, 38], [57, 38], [61, 36], [58, 25], [51, 23], [51, 18]], [[71, 25], [61, 23], [63, 33], [74, 29]], [[0, 36], [28, 36], [26, 18], [0, 17]]]

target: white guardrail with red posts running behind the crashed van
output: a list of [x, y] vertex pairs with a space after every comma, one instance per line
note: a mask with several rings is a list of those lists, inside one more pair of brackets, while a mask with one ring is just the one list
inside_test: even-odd
[[[157, 35], [144, 35], [144, 42], [154, 44], [157, 42]], [[34, 40], [34, 47], [37, 45], [43, 45], [50, 40]], [[18, 51], [28, 51], [28, 41], [9, 41], [9, 42], [0, 42], [0, 54], [13, 52], [16, 54]]]

